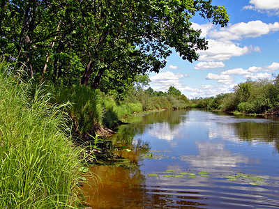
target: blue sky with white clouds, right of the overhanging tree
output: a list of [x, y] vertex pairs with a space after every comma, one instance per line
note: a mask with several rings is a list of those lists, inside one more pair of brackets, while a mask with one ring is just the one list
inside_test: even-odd
[[213, 5], [227, 8], [229, 25], [221, 28], [193, 17], [193, 28], [202, 29], [209, 49], [193, 63], [173, 52], [160, 73], [149, 75], [151, 88], [174, 86], [188, 98], [204, 98], [232, 92], [248, 78], [278, 75], [279, 0], [213, 0]]

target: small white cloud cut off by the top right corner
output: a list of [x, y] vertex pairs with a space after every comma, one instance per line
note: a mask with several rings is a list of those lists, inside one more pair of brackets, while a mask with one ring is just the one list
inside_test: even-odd
[[279, 1], [278, 0], [250, 0], [250, 5], [244, 6], [244, 9], [258, 10], [259, 12], [266, 12], [270, 15], [279, 15]]

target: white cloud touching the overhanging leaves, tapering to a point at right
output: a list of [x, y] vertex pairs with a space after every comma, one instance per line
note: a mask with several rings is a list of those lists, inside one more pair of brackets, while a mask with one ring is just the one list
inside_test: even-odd
[[243, 56], [250, 52], [255, 51], [253, 47], [239, 47], [232, 41], [220, 41], [209, 39], [209, 44], [206, 51], [199, 51], [199, 59], [203, 61], [225, 61], [230, 59], [232, 56]]

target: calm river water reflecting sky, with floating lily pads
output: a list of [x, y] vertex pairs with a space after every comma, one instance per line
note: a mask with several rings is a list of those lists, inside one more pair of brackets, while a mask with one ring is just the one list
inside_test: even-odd
[[112, 139], [133, 167], [91, 167], [89, 206], [279, 207], [277, 119], [176, 110], [126, 122]]

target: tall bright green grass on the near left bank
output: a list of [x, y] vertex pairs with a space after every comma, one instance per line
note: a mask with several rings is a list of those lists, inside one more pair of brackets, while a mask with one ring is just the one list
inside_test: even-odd
[[[80, 151], [66, 137], [63, 105], [0, 65], [0, 208], [75, 208]], [[7, 72], [7, 71], [6, 71]], [[33, 95], [32, 98], [30, 95]]]

